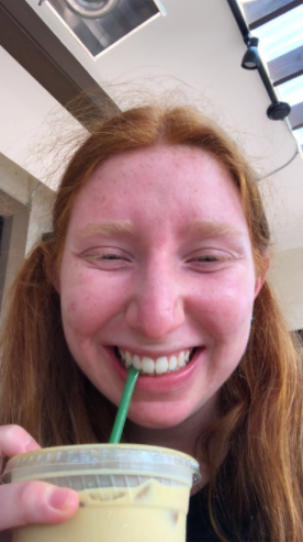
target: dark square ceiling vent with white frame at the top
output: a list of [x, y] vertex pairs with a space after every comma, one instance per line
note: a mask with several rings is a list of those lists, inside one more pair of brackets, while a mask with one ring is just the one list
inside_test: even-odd
[[75, 14], [64, 0], [44, 0], [40, 4], [43, 9], [52, 9], [94, 59], [141, 26], [166, 15], [159, 0], [120, 0], [112, 11], [100, 19]]

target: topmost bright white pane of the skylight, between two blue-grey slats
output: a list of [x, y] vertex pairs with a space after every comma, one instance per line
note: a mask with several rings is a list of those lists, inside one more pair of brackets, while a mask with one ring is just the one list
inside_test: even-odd
[[303, 45], [303, 4], [251, 31], [266, 62]]

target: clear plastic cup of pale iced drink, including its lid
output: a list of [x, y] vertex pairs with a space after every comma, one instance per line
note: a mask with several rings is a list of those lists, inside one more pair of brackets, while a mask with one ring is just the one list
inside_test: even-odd
[[96, 444], [36, 450], [12, 457], [4, 483], [44, 480], [79, 493], [75, 516], [26, 526], [14, 542], [184, 542], [198, 462], [175, 450]]

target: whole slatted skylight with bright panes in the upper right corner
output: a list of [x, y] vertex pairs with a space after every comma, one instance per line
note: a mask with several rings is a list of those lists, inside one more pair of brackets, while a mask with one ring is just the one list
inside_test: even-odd
[[[245, 37], [248, 32], [259, 38], [261, 64], [258, 69], [271, 97], [273, 110], [276, 107], [278, 113], [281, 110], [283, 114], [290, 110], [288, 120], [302, 145], [303, 0], [227, 1], [232, 9], [235, 1], [242, 5], [244, 25], [239, 24], [238, 20], [237, 22], [243, 36]], [[236, 10], [233, 11], [236, 13]], [[267, 69], [263, 69], [263, 65], [267, 65]], [[271, 109], [272, 107], [270, 106]], [[267, 114], [273, 119], [271, 109], [267, 110]], [[277, 119], [281, 117], [277, 114]]]

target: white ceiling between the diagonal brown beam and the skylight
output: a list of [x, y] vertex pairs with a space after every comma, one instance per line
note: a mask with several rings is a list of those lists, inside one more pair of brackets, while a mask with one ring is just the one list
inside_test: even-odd
[[215, 118], [258, 170], [278, 250], [303, 245], [302, 155], [287, 124], [267, 118], [270, 99], [258, 73], [240, 68], [246, 45], [227, 0], [161, 0], [166, 16], [154, 18], [97, 59], [47, 1], [25, 1], [120, 108], [166, 92]]

